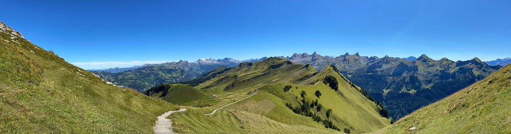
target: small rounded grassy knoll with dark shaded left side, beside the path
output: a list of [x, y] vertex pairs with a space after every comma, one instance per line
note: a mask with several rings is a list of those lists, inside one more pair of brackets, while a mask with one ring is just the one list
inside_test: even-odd
[[196, 106], [208, 94], [183, 84], [163, 84], [149, 89], [146, 95], [179, 105]]

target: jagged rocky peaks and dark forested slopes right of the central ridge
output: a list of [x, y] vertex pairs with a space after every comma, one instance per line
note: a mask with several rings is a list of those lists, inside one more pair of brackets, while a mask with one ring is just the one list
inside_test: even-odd
[[295, 53], [287, 59], [311, 64], [318, 70], [335, 65], [350, 81], [382, 101], [394, 119], [467, 87], [501, 67], [487, 65], [477, 58], [454, 62], [447, 58], [433, 60], [426, 55], [408, 61], [358, 53], [331, 58], [314, 52]]

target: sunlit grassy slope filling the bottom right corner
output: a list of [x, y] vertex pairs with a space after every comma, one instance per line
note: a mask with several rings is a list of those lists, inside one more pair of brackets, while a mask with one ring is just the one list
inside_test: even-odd
[[[384, 133], [511, 133], [511, 65], [397, 121]], [[416, 127], [415, 130], [409, 130]]]

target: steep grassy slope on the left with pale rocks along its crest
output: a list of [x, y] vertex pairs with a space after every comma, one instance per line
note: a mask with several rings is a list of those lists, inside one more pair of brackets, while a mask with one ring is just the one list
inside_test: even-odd
[[0, 28], [0, 133], [152, 133], [156, 116], [178, 108], [106, 84]]

